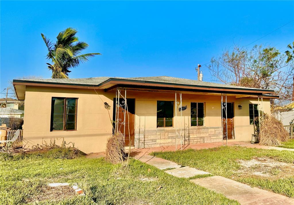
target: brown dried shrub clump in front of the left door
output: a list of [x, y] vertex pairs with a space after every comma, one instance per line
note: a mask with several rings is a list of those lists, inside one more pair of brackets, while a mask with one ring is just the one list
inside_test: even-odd
[[105, 160], [113, 164], [123, 162], [127, 157], [124, 145], [125, 136], [121, 132], [114, 133], [107, 140]]

